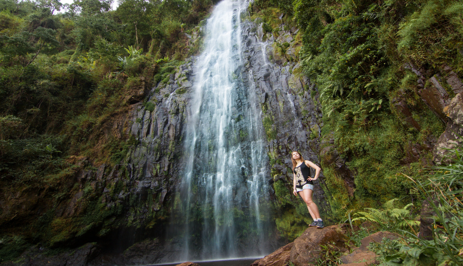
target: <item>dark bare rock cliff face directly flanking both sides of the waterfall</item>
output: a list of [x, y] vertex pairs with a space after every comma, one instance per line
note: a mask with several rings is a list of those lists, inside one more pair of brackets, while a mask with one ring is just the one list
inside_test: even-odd
[[[321, 116], [314, 104], [316, 100], [312, 99], [315, 94], [310, 95], [314, 87], [301, 74], [293, 58], [300, 46], [300, 41], [295, 40], [298, 30], [281, 25], [278, 33], [264, 33], [262, 23], [249, 20], [243, 20], [241, 27], [244, 64], [239, 71], [242, 82], [256, 97], [247, 100], [258, 101], [262, 110], [266, 152], [270, 159], [267, 172], [271, 174], [267, 179], [284, 188], [284, 194], [291, 195], [290, 153], [298, 150], [306, 160], [319, 163], [320, 125], [317, 119]], [[198, 41], [198, 34], [190, 40], [192, 46]], [[115, 137], [129, 136], [128, 152], [120, 164], [95, 167], [85, 157], [69, 158], [69, 163], [75, 167], [67, 174], [66, 182], [60, 184], [66, 197], [53, 199], [51, 195], [45, 196], [51, 193], [47, 190], [37, 197], [27, 196], [32, 191], [7, 197], [2, 202], [2, 218], [8, 220], [10, 217], [13, 221], [15, 213], [27, 215], [18, 208], [34, 209], [40, 218], [39, 222], [33, 222], [36, 224], [33, 227], [48, 232], [51, 247], [69, 244], [72, 247], [91, 241], [101, 244], [102, 249], [92, 249], [92, 259], [102, 250], [103, 255], [95, 260], [97, 264], [113, 260], [127, 264], [174, 261], [178, 239], [165, 236], [185, 167], [183, 139], [191, 116], [196, 59], [192, 57], [177, 66], [154, 88], [145, 88], [144, 80], [140, 80], [141, 85], [134, 88], [133, 94], [123, 99], [128, 103], [128, 112], [111, 120], [112, 125], [105, 126]], [[315, 183], [314, 198], [321, 212], [326, 213], [329, 205], [323, 189], [323, 174]], [[290, 200], [293, 205], [285, 207], [279, 198], [281, 195], [275, 195], [274, 191], [269, 194], [275, 207], [282, 207], [280, 213], [275, 214], [277, 219], [285, 215], [288, 206], [291, 209], [293, 205], [301, 205], [299, 212], [304, 217], [300, 217], [299, 222], [310, 220], [302, 200], [295, 197]], [[48, 203], [39, 208], [44, 201]], [[302, 226], [304, 229], [305, 224]], [[287, 228], [278, 227], [277, 230], [280, 233], [274, 233], [279, 235]], [[133, 244], [151, 250], [151, 255], [134, 253], [137, 248], [127, 249]], [[126, 249], [120, 255], [113, 254]], [[41, 252], [38, 248], [25, 256], [31, 258]], [[108, 254], [113, 255], [108, 257]], [[84, 264], [88, 260], [88, 256], [85, 257]]]

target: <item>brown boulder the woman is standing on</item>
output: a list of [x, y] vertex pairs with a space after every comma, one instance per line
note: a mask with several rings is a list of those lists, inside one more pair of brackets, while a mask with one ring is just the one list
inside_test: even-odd
[[294, 240], [289, 260], [295, 266], [316, 263], [317, 258], [320, 256], [321, 245], [331, 244], [334, 249], [344, 252], [347, 251], [345, 240], [345, 235], [337, 225], [323, 229], [309, 227]]

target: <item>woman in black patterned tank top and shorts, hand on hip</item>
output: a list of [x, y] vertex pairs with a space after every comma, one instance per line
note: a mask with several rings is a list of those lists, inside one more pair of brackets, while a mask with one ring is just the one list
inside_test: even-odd
[[[318, 211], [317, 204], [313, 202], [313, 180], [317, 180], [320, 174], [321, 168], [310, 161], [304, 161], [302, 155], [295, 151], [291, 154], [291, 161], [293, 161], [293, 194], [298, 196], [305, 201], [307, 209], [309, 210], [310, 216], [312, 216], [313, 222], [310, 226], [316, 226], [317, 228], [323, 228], [323, 221], [320, 218], [320, 212]], [[310, 167], [315, 169], [315, 177], [310, 177]]]

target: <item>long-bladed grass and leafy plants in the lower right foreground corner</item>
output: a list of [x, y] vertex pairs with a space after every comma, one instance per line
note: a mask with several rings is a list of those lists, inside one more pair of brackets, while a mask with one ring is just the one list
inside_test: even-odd
[[[394, 210], [392, 204], [395, 200], [386, 203], [385, 207], [389, 213], [395, 214], [393, 216], [397, 224], [395, 229], [401, 234], [401, 238], [384, 239], [382, 244], [374, 244], [370, 247], [379, 255], [382, 262], [380, 266], [462, 265], [463, 157], [461, 150], [455, 150], [453, 156], [454, 159], [450, 165], [432, 168], [426, 182], [411, 180], [419, 188], [423, 198], [428, 199], [430, 203], [430, 209], [427, 210], [429, 217], [422, 217], [430, 218], [432, 221], [429, 226], [432, 234], [428, 238], [417, 236], [413, 229], [415, 224], [410, 223], [411, 221], [406, 217], [408, 214], [403, 215], [405, 208]], [[354, 220], [352, 221], [355, 222]], [[375, 217], [368, 220], [385, 229], [380, 219]], [[397, 230], [397, 227], [401, 227], [402, 230]], [[391, 229], [394, 230], [394, 228]]]

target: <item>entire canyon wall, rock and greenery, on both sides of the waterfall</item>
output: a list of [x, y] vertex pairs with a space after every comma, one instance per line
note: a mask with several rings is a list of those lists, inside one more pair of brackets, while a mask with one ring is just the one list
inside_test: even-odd
[[[1, 2], [4, 261], [27, 250], [23, 261], [153, 263], [180, 248], [165, 235], [212, 7], [124, 2], [82, 1], [80, 15]], [[275, 248], [311, 222], [291, 194], [292, 150], [322, 166], [315, 199], [332, 223], [392, 198], [420, 206], [406, 175], [422, 180], [446, 163], [438, 148], [461, 145], [462, 11], [458, 1], [274, 0], [241, 14], [236, 74], [262, 111]]]

